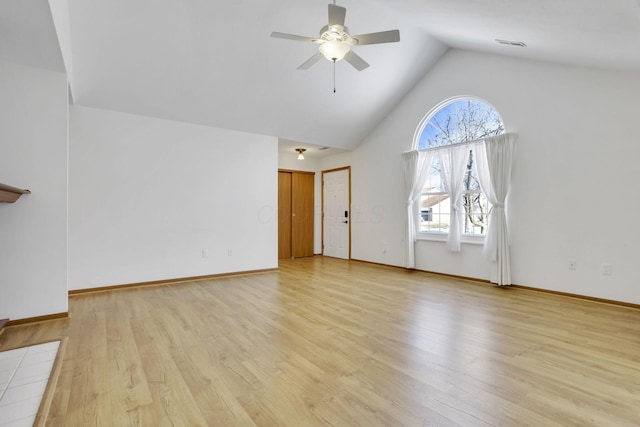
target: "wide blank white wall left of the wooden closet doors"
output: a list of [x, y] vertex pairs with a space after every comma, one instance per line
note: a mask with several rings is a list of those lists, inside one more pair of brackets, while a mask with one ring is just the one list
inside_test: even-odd
[[77, 106], [69, 131], [70, 289], [277, 267], [276, 138]]

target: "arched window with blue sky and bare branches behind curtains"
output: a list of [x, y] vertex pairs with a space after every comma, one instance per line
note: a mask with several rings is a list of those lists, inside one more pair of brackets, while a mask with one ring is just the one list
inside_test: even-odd
[[[504, 123], [498, 111], [487, 102], [473, 97], [446, 100], [422, 120], [414, 138], [414, 148], [433, 149], [460, 144], [504, 133]], [[476, 171], [473, 150], [463, 178], [462, 233], [482, 236], [488, 225], [489, 203], [482, 193]], [[440, 158], [436, 156], [420, 197], [421, 233], [448, 233], [451, 223], [449, 192], [443, 179]]]

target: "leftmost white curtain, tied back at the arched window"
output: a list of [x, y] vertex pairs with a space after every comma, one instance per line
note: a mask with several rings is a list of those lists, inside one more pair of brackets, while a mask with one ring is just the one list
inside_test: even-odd
[[404, 266], [415, 268], [415, 242], [418, 233], [420, 215], [420, 193], [429, 174], [433, 152], [409, 151], [402, 153], [404, 183], [407, 201], [407, 224], [405, 229]]

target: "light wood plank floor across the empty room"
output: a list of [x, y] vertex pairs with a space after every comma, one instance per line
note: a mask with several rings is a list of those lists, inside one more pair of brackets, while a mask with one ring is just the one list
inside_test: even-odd
[[52, 426], [640, 425], [640, 310], [314, 257], [81, 295]]

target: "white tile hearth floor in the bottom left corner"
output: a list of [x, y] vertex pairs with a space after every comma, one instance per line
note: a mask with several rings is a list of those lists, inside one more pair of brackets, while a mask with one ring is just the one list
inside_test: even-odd
[[0, 352], [0, 427], [31, 427], [60, 341]]

